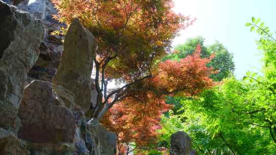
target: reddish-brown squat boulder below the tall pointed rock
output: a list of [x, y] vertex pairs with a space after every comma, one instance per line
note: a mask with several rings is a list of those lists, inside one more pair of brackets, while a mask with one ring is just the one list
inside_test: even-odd
[[25, 89], [19, 108], [20, 139], [39, 143], [73, 143], [76, 119], [65, 107], [54, 104], [52, 84], [33, 81]]

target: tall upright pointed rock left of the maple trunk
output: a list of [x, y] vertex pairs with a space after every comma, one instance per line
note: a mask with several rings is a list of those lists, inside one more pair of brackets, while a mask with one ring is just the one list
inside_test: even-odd
[[[58, 96], [67, 105], [83, 114], [89, 110], [92, 95], [91, 71], [93, 68], [95, 38], [74, 19], [65, 36], [64, 51], [52, 83]], [[63, 91], [59, 91], [59, 90]]]

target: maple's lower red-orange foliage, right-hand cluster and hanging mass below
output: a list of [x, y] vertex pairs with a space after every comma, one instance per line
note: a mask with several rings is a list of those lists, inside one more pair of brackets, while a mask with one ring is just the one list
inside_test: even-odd
[[[160, 116], [170, 109], [164, 100], [166, 94], [191, 96], [213, 85], [209, 75], [214, 71], [206, 67], [212, 57], [201, 58], [198, 45], [193, 55], [179, 62], [159, 63], [151, 79], [136, 85], [127, 92], [129, 97], [109, 110], [101, 122], [117, 134], [119, 154], [156, 142]], [[135, 146], [130, 147], [131, 143]]]

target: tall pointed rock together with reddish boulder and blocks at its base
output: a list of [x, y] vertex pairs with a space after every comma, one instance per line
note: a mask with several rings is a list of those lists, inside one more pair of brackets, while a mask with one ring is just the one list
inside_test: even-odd
[[97, 97], [90, 77], [94, 43], [75, 19], [53, 83], [28, 79], [34, 81], [26, 86], [20, 105], [18, 136], [32, 154], [116, 154], [116, 135], [98, 121], [87, 125], [84, 116]]

